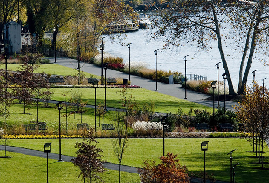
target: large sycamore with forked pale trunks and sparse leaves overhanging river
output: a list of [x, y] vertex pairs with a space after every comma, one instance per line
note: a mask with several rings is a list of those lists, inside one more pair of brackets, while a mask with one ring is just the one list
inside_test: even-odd
[[[224, 53], [223, 47], [227, 46], [226, 39], [233, 39], [234, 49], [242, 53], [237, 91], [244, 93], [254, 53], [269, 53], [269, 0], [227, 0], [226, 4], [221, 0], [182, 0], [171, 1], [167, 6], [154, 21], [157, 31], [152, 37], [164, 36], [165, 48], [196, 43], [198, 50], [205, 51], [212, 48], [211, 41], [215, 40], [225, 72], [229, 72], [225, 58], [229, 53]], [[235, 94], [230, 74], [227, 81], [229, 93]]]

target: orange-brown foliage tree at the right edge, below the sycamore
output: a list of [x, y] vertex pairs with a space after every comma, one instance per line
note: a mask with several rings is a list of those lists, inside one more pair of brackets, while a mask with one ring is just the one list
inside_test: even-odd
[[[259, 138], [256, 140], [256, 147], [260, 149], [261, 146], [263, 153], [265, 140], [269, 138], [269, 91], [266, 87], [255, 84], [254, 91], [253, 87], [247, 87], [245, 93], [244, 100], [236, 106], [238, 120], [245, 125], [247, 132]], [[261, 160], [263, 168], [262, 156]]]

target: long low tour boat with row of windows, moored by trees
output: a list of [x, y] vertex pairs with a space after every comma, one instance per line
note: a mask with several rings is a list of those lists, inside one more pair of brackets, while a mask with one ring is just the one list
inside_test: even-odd
[[125, 20], [120, 24], [111, 24], [108, 26], [109, 32], [119, 33], [119, 32], [131, 32], [139, 29], [139, 23], [133, 22], [132, 20]]

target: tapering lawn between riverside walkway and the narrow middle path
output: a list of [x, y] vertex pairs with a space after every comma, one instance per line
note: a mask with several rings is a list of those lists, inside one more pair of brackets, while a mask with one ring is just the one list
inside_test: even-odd
[[[53, 100], [62, 101], [64, 100], [63, 96], [61, 96], [61, 93], [64, 93], [66, 91], [69, 91], [71, 89], [69, 88], [55, 88], [52, 89], [54, 91], [54, 94], [52, 96]], [[108, 107], [114, 107], [114, 108], [123, 108], [122, 103], [120, 102], [120, 99], [122, 98], [120, 96], [120, 93], [118, 92], [119, 88], [107, 88], [106, 89], [106, 105]], [[73, 91], [78, 91], [79, 93], [82, 92], [82, 100], [87, 101], [87, 104], [94, 105], [94, 88], [73, 88], [71, 93]], [[118, 92], [118, 93], [116, 93]], [[155, 104], [155, 112], [161, 112], [161, 113], [176, 113], [179, 108], [182, 108], [184, 112], [188, 112], [190, 108], [193, 109], [207, 109], [207, 111], [213, 112], [213, 108], [207, 107], [201, 104], [197, 104], [194, 102], [189, 102], [183, 99], [178, 99], [174, 96], [165, 95], [162, 93], [150, 91], [144, 88], [133, 88], [127, 90], [127, 95], [129, 96], [132, 94], [133, 99], [139, 104], [141, 108], [143, 108], [143, 105], [145, 103], [150, 103], [150, 101], [153, 101]], [[104, 102], [105, 100], [105, 88], [97, 88], [96, 90], [96, 101], [97, 104], [99, 102]]]

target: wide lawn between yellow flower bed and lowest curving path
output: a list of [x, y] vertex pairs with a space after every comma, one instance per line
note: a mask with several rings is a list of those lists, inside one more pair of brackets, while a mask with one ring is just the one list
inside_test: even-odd
[[[74, 144], [82, 139], [62, 139], [62, 154], [75, 156], [76, 149]], [[103, 149], [103, 159], [108, 162], [118, 163], [114, 154], [110, 139], [97, 139], [97, 146]], [[250, 152], [252, 147], [245, 139], [239, 138], [166, 138], [165, 152], [178, 154], [181, 164], [186, 164], [190, 171], [198, 172], [203, 170], [204, 153], [201, 151], [201, 142], [209, 141], [208, 151], [206, 151], [206, 171], [214, 173], [216, 179], [227, 181], [230, 180], [230, 159], [227, 155], [233, 149], [233, 164], [239, 162], [236, 166], [236, 182], [268, 182], [268, 169], [260, 170], [261, 167], [255, 154]], [[59, 153], [59, 139], [10, 139], [11, 146], [25, 147], [35, 150], [43, 150], [46, 142], [52, 142], [51, 152]], [[156, 139], [129, 139], [126, 152], [123, 155], [124, 165], [141, 167], [143, 160], [155, 159], [163, 152], [163, 142], [161, 138]], [[1, 143], [3, 144], [3, 142]], [[268, 162], [268, 147], [264, 148], [264, 162]], [[268, 164], [264, 165], [268, 168]]]

